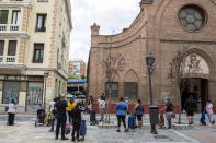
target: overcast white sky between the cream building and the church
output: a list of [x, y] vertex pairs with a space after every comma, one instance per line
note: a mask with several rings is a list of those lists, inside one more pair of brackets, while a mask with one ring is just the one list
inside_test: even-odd
[[91, 31], [95, 22], [100, 35], [111, 35], [128, 27], [139, 13], [141, 0], [71, 0], [73, 29], [70, 37], [70, 60], [88, 61]]

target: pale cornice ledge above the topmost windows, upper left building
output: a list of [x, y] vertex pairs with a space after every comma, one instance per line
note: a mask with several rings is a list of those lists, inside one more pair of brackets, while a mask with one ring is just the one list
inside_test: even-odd
[[0, 8], [32, 8], [30, 2], [1, 2]]

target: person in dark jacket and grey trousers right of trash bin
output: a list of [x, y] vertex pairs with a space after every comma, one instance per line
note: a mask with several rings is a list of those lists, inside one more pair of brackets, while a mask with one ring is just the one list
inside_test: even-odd
[[173, 116], [173, 104], [169, 97], [167, 98], [167, 104], [166, 104], [164, 110], [166, 110], [166, 117], [167, 117], [167, 121], [168, 121], [168, 129], [171, 129], [172, 116]]

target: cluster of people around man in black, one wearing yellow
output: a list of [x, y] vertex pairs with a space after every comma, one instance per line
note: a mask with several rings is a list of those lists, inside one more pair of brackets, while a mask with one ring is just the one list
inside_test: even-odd
[[71, 141], [80, 141], [80, 127], [81, 127], [81, 112], [84, 110], [83, 105], [80, 103], [75, 104], [73, 98], [69, 103], [66, 100], [66, 96], [62, 94], [59, 98], [54, 98], [49, 104], [49, 111], [53, 114], [50, 132], [54, 132], [54, 122], [57, 120], [55, 140], [58, 140], [59, 130], [61, 130], [61, 140], [68, 140], [66, 138], [67, 118], [68, 126], [72, 126]]

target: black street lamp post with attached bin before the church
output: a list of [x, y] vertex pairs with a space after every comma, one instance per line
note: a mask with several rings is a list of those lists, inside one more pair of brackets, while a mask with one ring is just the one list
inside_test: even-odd
[[150, 106], [149, 106], [149, 118], [150, 118], [150, 124], [151, 124], [151, 133], [157, 134], [156, 124], [158, 123], [158, 106], [154, 105], [152, 99], [152, 88], [151, 88], [151, 75], [156, 68], [156, 58], [152, 56], [152, 53], [149, 53], [146, 57], [146, 64], [148, 67], [148, 74], [149, 74], [149, 96], [150, 96]]

